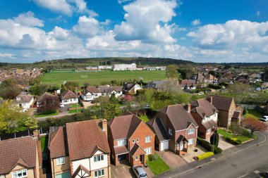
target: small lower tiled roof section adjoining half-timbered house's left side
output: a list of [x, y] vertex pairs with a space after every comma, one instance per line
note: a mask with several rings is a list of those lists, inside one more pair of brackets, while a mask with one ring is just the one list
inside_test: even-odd
[[59, 127], [49, 134], [50, 158], [59, 158], [68, 155], [66, 128]]

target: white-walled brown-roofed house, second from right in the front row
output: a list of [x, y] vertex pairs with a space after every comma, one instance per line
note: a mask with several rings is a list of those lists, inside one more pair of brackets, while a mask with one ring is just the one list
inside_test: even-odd
[[202, 139], [209, 139], [217, 127], [219, 110], [205, 98], [201, 98], [191, 103], [190, 113], [199, 126], [197, 135]]

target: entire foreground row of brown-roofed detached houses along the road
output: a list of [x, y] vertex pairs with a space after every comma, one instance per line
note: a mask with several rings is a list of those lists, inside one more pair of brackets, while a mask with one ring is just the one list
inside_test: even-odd
[[[233, 98], [211, 96], [162, 108], [148, 122], [126, 112], [108, 122], [87, 120], [50, 127], [51, 175], [111, 177], [111, 163], [145, 165], [146, 155], [154, 155], [155, 150], [180, 155], [196, 146], [197, 136], [209, 139], [217, 125], [239, 125], [242, 113]], [[38, 177], [40, 155], [38, 135], [0, 141], [0, 177]]]

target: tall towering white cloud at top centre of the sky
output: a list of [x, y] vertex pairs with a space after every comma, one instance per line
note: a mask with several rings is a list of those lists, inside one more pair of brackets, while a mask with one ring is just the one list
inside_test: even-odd
[[175, 24], [169, 25], [177, 1], [137, 0], [123, 6], [126, 21], [116, 25], [114, 32], [118, 41], [141, 40], [145, 43], [173, 43], [171, 37]]

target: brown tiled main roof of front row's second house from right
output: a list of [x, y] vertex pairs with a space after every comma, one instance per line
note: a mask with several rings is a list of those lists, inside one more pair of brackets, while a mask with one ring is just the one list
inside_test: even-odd
[[[210, 115], [214, 115], [215, 112], [219, 112], [215, 106], [212, 105], [205, 98], [198, 99], [197, 101], [193, 101], [191, 103], [191, 112], [198, 113], [202, 118], [206, 115], [207, 117]], [[205, 115], [204, 115], [205, 114]]]

